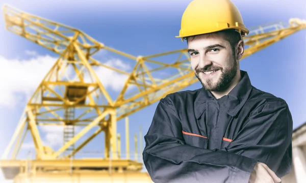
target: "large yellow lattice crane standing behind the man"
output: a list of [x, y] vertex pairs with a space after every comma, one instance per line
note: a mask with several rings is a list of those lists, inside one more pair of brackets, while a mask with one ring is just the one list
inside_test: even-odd
[[[128, 129], [125, 134], [127, 155], [122, 158], [117, 121], [125, 117], [128, 127], [128, 115], [197, 82], [187, 49], [133, 56], [110, 48], [79, 29], [8, 5], [3, 11], [8, 31], [59, 54], [25, 106], [2, 156], [0, 166], [5, 177], [14, 182], [151, 182], [148, 174], [141, 172], [142, 163], [130, 159]], [[303, 28], [306, 21], [297, 18], [290, 19], [288, 24], [276, 22], [250, 28], [250, 34], [244, 38], [243, 58]], [[100, 49], [135, 60], [132, 72], [126, 73], [94, 59], [93, 54]], [[172, 63], [156, 60], [162, 56], [167, 59], [169, 55], [176, 58]], [[94, 71], [97, 67], [127, 76], [116, 100], [112, 100], [99, 80]], [[161, 74], [156, 74], [160, 71], [173, 75], [161, 78]], [[63, 146], [55, 150], [43, 145], [39, 126], [62, 126]], [[74, 131], [76, 126], [83, 127], [78, 134]], [[36, 158], [18, 160], [16, 157], [27, 132], [31, 133]], [[105, 134], [105, 156], [74, 159], [74, 155], [101, 132]], [[89, 137], [80, 142], [85, 135]]]

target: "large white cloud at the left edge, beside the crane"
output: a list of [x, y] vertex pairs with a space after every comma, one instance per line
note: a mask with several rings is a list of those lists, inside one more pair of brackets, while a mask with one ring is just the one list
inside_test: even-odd
[[0, 106], [14, 107], [28, 100], [57, 58], [37, 55], [28, 60], [7, 59], [0, 55]]

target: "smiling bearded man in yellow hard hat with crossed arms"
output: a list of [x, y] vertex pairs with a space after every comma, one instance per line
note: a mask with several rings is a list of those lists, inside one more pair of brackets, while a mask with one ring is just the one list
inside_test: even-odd
[[203, 87], [160, 100], [143, 151], [155, 183], [280, 182], [291, 171], [288, 105], [239, 67], [248, 33], [230, 0], [188, 5], [178, 37]]

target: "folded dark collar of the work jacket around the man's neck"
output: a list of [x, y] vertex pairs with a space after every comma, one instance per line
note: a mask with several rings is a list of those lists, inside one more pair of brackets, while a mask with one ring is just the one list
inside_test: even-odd
[[202, 115], [206, 109], [205, 103], [209, 100], [217, 100], [220, 107], [222, 107], [220, 110], [225, 110], [228, 115], [236, 116], [252, 91], [252, 85], [247, 72], [240, 70], [240, 73], [241, 80], [239, 83], [228, 95], [220, 99], [216, 99], [208, 90], [200, 88], [199, 94], [194, 102], [195, 117], [199, 118]]

